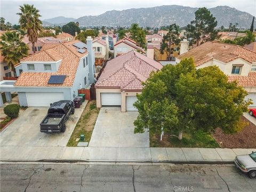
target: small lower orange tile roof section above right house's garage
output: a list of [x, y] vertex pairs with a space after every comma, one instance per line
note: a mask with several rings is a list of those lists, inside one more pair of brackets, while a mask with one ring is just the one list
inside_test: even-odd
[[256, 87], [256, 72], [250, 72], [248, 76], [232, 75], [228, 76], [228, 81], [237, 81], [241, 86], [253, 86]]

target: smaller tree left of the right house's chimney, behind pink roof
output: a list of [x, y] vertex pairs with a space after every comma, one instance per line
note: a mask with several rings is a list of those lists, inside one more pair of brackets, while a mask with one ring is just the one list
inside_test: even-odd
[[164, 54], [164, 52], [167, 54], [168, 61], [171, 60], [174, 49], [179, 47], [179, 35], [179, 27], [174, 23], [169, 26], [168, 33], [163, 37], [160, 52], [161, 54]]

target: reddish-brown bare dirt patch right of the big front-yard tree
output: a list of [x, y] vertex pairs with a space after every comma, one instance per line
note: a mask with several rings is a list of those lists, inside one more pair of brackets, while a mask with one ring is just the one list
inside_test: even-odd
[[221, 148], [256, 148], [256, 125], [244, 116], [241, 118], [248, 125], [237, 133], [226, 134], [221, 129], [215, 130], [213, 137], [219, 142]]

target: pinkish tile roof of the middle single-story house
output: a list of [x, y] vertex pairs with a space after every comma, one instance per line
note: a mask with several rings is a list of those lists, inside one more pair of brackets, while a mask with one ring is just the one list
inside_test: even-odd
[[95, 87], [142, 90], [141, 82], [146, 81], [151, 71], [161, 68], [161, 63], [132, 50], [108, 61]]

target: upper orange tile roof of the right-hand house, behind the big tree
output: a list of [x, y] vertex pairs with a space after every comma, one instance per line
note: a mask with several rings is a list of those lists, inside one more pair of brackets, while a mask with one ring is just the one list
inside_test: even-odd
[[195, 65], [199, 66], [212, 59], [220, 60], [222, 62], [230, 62], [237, 58], [242, 58], [248, 62], [256, 62], [256, 53], [245, 49], [239, 45], [218, 43], [218, 42], [206, 42], [202, 45], [189, 50], [177, 57], [182, 60], [185, 58], [193, 58]]

